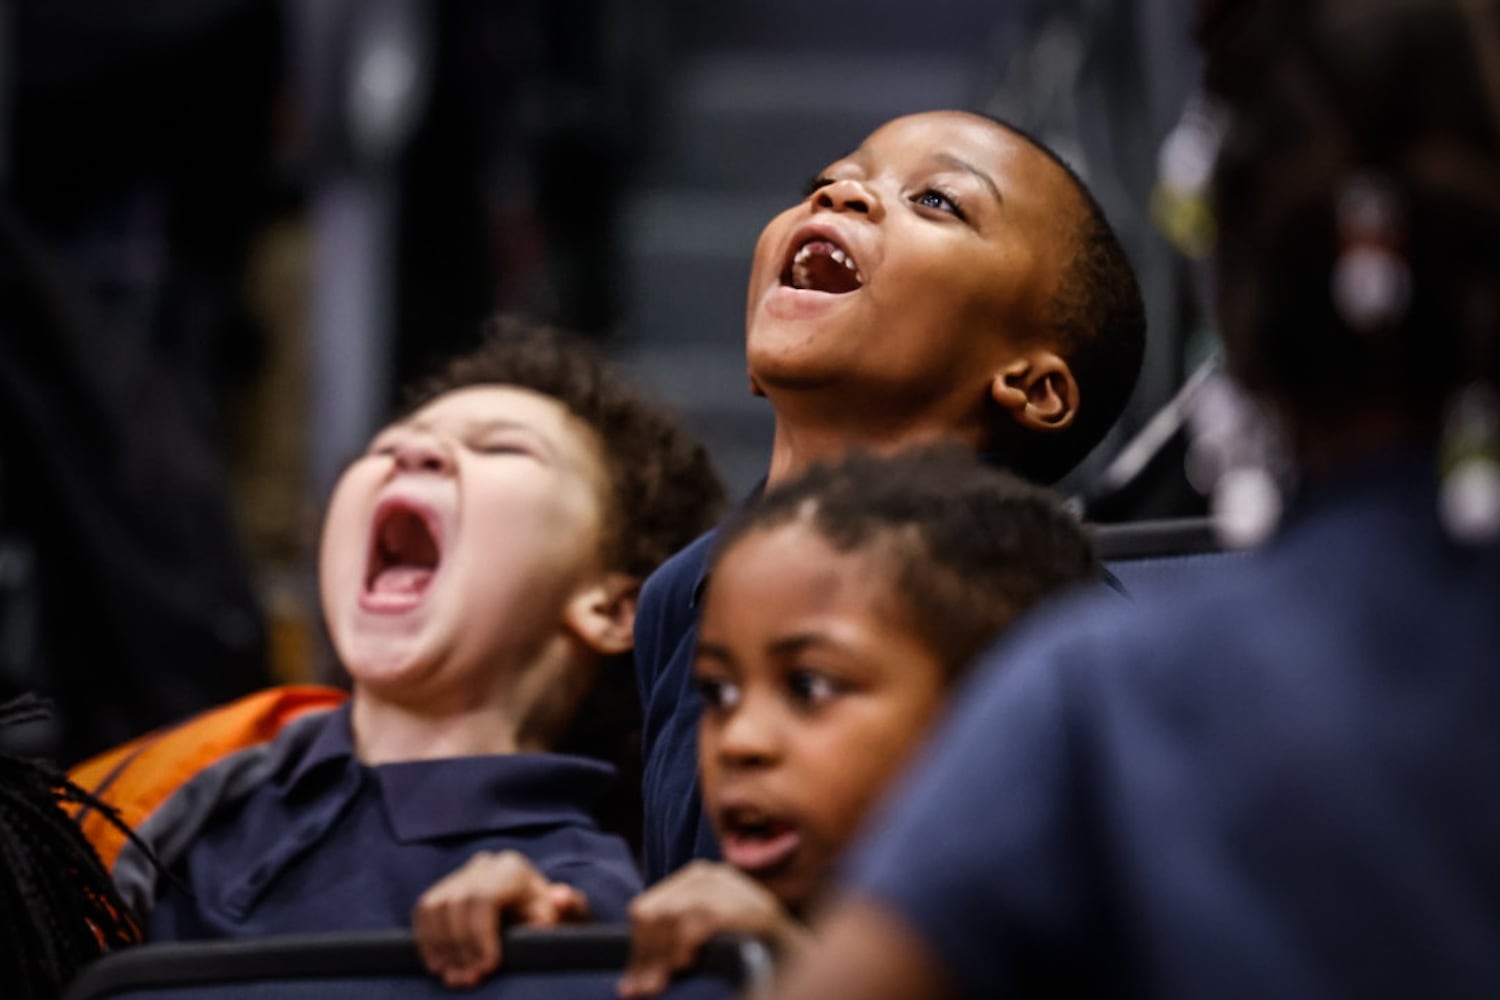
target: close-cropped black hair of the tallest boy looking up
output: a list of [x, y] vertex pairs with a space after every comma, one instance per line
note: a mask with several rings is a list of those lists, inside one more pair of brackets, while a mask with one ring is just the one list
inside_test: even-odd
[[1140, 282], [1108, 216], [1083, 178], [1036, 136], [992, 118], [1052, 160], [1078, 195], [1080, 214], [1044, 321], [1078, 382], [1078, 414], [1065, 430], [1029, 435], [1008, 465], [1034, 483], [1054, 483], [1094, 450], [1125, 412], [1146, 354]]

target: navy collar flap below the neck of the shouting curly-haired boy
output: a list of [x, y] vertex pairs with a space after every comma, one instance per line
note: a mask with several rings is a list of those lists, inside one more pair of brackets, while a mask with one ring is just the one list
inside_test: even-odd
[[615, 769], [567, 754], [484, 754], [370, 768], [400, 843], [538, 826], [597, 828]]

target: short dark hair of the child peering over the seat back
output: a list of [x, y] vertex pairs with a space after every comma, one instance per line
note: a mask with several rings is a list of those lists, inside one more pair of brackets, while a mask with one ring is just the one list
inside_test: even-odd
[[957, 444], [814, 465], [741, 510], [714, 565], [747, 535], [794, 522], [836, 552], [879, 559], [950, 676], [1042, 598], [1101, 576], [1083, 526], [1056, 493], [980, 465]]

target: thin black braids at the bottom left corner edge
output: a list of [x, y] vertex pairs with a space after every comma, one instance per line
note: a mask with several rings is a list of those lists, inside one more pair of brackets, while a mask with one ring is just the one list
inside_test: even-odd
[[[0, 727], [46, 712], [33, 697], [0, 705]], [[57, 997], [99, 955], [141, 928], [64, 805], [108, 807], [50, 765], [0, 754], [0, 984], [6, 997]], [[118, 820], [117, 820], [118, 822]]]

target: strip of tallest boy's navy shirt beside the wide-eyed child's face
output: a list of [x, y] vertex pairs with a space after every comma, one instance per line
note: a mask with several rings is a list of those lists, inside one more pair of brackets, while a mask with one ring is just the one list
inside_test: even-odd
[[645, 829], [642, 864], [657, 882], [694, 858], [718, 858], [698, 790], [698, 691], [693, 649], [708, 559], [710, 531], [663, 562], [640, 588], [636, 609], [636, 682], [640, 687]]

